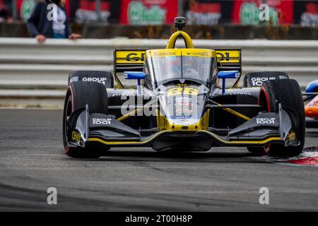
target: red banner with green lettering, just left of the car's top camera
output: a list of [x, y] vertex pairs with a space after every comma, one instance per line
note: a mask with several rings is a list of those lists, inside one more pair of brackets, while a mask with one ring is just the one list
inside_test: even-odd
[[120, 23], [130, 25], [172, 24], [178, 0], [122, 0]]

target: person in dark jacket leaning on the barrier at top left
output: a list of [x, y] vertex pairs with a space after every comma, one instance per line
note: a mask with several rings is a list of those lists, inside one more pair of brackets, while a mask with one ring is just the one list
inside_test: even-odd
[[69, 38], [71, 40], [81, 38], [81, 35], [71, 31], [64, 2], [64, 0], [45, 0], [35, 6], [27, 26], [30, 34], [38, 42], [45, 42], [47, 38]]

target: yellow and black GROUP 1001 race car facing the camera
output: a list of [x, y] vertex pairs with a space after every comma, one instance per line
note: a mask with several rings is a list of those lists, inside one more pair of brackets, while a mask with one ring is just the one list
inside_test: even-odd
[[[242, 74], [241, 49], [196, 49], [185, 18], [163, 49], [115, 49], [114, 75], [73, 71], [63, 119], [66, 155], [95, 158], [114, 147], [207, 151], [247, 147], [298, 155], [305, 111], [298, 82], [283, 72]], [[175, 47], [178, 38], [185, 47]], [[119, 81], [136, 80], [136, 89]], [[226, 81], [235, 79], [227, 88]], [[257, 86], [262, 81], [261, 86]]]

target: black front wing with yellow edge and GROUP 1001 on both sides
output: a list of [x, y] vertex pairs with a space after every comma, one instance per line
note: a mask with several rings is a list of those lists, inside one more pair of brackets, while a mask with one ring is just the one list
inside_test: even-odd
[[299, 145], [290, 117], [281, 107], [278, 113], [259, 114], [223, 135], [214, 128], [197, 131], [136, 130], [110, 115], [90, 114], [88, 105], [71, 114], [67, 127], [66, 141], [71, 147], [85, 147], [88, 142], [108, 147], [152, 146], [159, 141], [165, 141], [169, 147], [169, 141], [175, 145], [178, 139], [194, 143], [206, 140], [211, 146]]

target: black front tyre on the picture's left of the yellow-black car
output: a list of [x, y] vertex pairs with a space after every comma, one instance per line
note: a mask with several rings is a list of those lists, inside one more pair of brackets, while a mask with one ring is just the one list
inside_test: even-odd
[[85, 148], [69, 147], [66, 142], [68, 134], [67, 119], [71, 113], [88, 104], [90, 113], [108, 113], [107, 90], [101, 83], [77, 81], [69, 85], [66, 92], [63, 113], [63, 144], [66, 155], [74, 158], [98, 158], [107, 148], [88, 143]]

